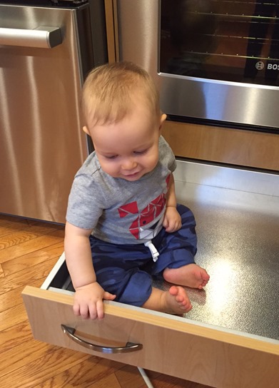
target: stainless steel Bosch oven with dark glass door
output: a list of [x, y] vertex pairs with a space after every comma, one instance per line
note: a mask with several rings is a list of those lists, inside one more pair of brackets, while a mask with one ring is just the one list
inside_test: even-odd
[[119, 56], [173, 121], [279, 131], [279, 1], [118, 0]]

